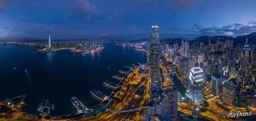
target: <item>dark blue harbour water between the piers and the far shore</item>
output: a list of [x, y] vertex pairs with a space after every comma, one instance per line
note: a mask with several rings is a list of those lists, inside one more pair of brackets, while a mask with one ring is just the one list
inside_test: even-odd
[[99, 101], [92, 98], [90, 90], [109, 94], [102, 85], [105, 80], [116, 81], [113, 74], [124, 66], [147, 60], [144, 52], [113, 43], [86, 56], [67, 51], [35, 52], [32, 46], [0, 45], [0, 100], [26, 94], [24, 110], [35, 114], [45, 98], [54, 104], [53, 115], [75, 113], [72, 96], [84, 106], [94, 106]]

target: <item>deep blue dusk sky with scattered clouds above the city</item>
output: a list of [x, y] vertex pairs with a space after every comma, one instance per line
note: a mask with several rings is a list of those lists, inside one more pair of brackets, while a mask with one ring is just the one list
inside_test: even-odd
[[0, 40], [161, 38], [256, 31], [255, 0], [0, 0]]

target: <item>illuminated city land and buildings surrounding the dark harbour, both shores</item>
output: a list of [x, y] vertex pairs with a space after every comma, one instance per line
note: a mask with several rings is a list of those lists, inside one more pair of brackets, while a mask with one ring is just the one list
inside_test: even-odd
[[[72, 97], [70, 101], [77, 110], [76, 114], [51, 115], [54, 105], [45, 99], [38, 107], [39, 115], [36, 115], [22, 110], [26, 95], [21, 95], [1, 102], [1, 117], [26, 120], [254, 119], [255, 44], [250, 44], [247, 36], [241, 40], [244, 42], [242, 45], [234, 45], [233, 40], [224, 39], [180, 40], [181, 44], [176, 43], [177, 40], [160, 42], [158, 26], [153, 25], [150, 41], [116, 43], [145, 52], [147, 63], [126, 66], [126, 70], [119, 71], [120, 75], [113, 75], [118, 84], [105, 81], [103, 85], [113, 90], [109, 95], [100, 90], [91, 90], [92, 96], [100, 100], [97, 106], [86, 107], [78, 98]], [[16, 45], [19, 42], [2, 44]], [[83, 52], [100, 52], [95, 50], [103, 49], [103, 44], [103, 41], [96, 44], [77, 42], [70, 48], [75, 48], [72, 52], [83, 55], [86, 54]], [[50, 36], [46, 44], [28, 45], [38, 46], [36, 52], [69, 50], [65, 43], [53, 43]]]

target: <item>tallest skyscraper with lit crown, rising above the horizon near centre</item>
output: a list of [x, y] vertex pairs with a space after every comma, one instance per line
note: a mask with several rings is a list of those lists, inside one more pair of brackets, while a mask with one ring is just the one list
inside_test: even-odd
[[150, 44], [150, 56], [149, 56], [149, 65], [151, 68], [151, 89], [155, 89], [161, 86], [159, 60], [160, 60], [160, 40], [159, 40], [158, 26], [153, 25], [151, 27], [151, 44]]

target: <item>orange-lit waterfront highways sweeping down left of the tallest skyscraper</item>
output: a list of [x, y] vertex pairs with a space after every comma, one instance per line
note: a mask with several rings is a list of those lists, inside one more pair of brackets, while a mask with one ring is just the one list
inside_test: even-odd
[[[134, 68], [133, 72], [127, 76], [127, 81], [123, 83], [121, 90], [118, 90], [115, 94], [117, 99], [109, 109], [98, 115], [81, 118], [80, 120], [140, 120], [141, 115], [145, 115], [142, 112], [147, 105], [150, 90], [149, 77], [139, 73], [139, 69], [139, 67]], [[139, 96], [136, 92], [141, 88], [146, 93]]]

